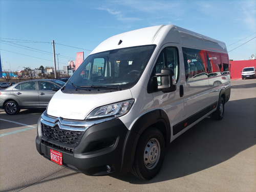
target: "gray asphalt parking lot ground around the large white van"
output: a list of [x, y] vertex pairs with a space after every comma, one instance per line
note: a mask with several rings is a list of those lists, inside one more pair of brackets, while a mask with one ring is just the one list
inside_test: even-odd
[[86, 176], [46, 160], [35, 148], [42, 112], [0, 110], [0, 191], [256, 191], [256, 79], [232, 80], [224, 119], [205, 118], [171, 143], [150, 181]]

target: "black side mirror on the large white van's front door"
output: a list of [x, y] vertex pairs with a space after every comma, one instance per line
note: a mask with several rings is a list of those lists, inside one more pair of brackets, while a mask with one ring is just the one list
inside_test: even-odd
[[156, 74], [157, 77], [157, 89], [164, 93], [176, 91], [176, 77], [174, 70], [170, 68], [161, 69], [161, 73]]

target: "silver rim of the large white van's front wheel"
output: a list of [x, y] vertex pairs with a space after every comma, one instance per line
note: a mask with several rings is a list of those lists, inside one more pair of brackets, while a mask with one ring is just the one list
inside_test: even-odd
[[156, 138], [150, 139], [144, 150], [144, 164], [147, 169], [156, 167], [160, 158], [160, 143]]

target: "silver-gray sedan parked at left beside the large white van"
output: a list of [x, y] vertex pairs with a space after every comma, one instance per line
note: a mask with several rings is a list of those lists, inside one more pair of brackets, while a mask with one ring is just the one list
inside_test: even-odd
[[17, 114], [20, 109], [44, 109], [56, 91], [65, 82], [53, 79], [37, 79], [14, 84], [0, 90], [0, 108], [8, 115]]

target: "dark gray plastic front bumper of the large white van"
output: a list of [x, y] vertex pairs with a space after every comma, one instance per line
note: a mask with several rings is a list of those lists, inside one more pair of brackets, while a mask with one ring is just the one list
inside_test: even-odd
[[[45, 158], [50, 160], [50, 149], [59, 151], [62, 153], [62, 166], [86, 175], [114, 175], [131, 169], [136, 147], [126, 147], [125, 142], [128, 135], [128, 143], [131, 143], [138, 134], [131, 133], [120, 119], [93, 124], [81, 134], [78, 144], [49, 138], [42, 131], [44, 124], [41, 120], [39, 118], [37, 123], [36, 149]], [[68, 137], [70, 135], [74, 133], [69, 133]], [[124, 148], [131, 158], [123, 158]], [[124, 164], [126, 166], [122, 166]]]

